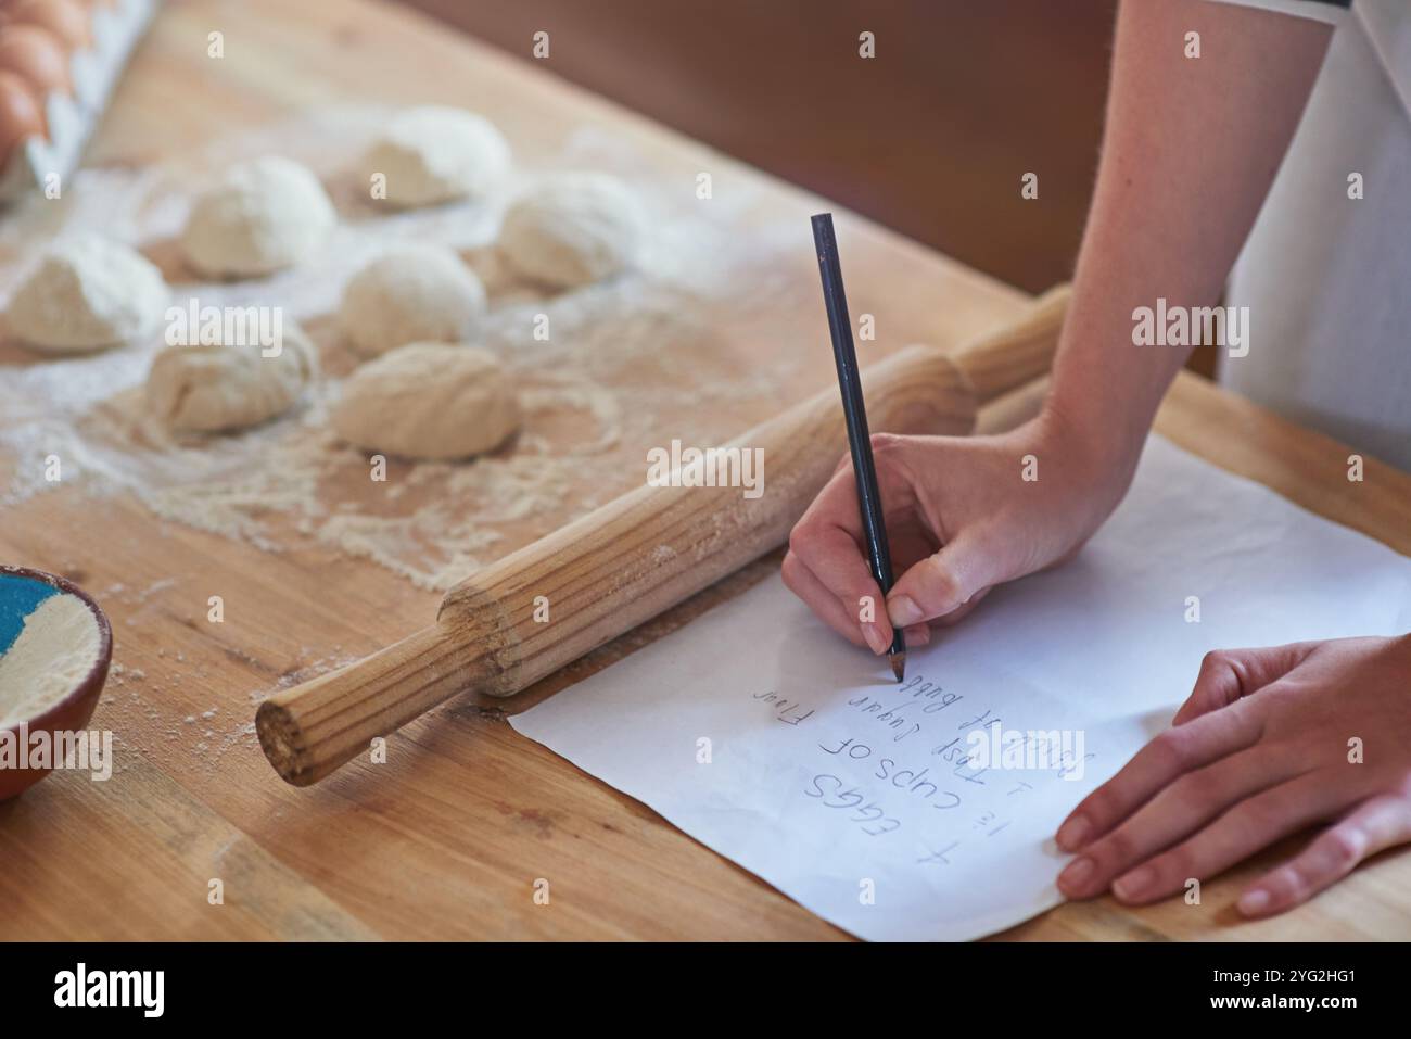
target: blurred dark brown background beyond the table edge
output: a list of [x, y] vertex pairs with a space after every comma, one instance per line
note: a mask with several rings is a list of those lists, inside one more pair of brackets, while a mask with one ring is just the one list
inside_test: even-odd
[[547, 30], [536, 66], [1012, 285], [1071, 274], [1116, 0], [404, 3], [525, 61]]

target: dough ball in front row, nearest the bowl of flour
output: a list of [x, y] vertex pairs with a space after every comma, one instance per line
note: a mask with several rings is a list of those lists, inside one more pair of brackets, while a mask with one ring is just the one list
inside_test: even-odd
[[313, 343], [284, 329], [279, 353], [260, 346], [171, 346], [152, 360], [147, 407], [172, 429], [220, 432], [282, 415], [319, 370]]

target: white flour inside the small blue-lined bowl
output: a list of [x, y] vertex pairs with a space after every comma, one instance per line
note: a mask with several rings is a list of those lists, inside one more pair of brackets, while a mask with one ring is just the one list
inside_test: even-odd
[[0, 656], [0, 728], [42, 714], [93, 669], [102, 644], [93, 611], [78, 596], [49, 596], [24, 618]]

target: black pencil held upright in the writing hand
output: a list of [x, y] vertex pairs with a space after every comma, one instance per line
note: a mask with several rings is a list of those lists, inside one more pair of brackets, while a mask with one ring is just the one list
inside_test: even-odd
[[[842, 291], [842, 267], [838, 263], [838, 240], [832, 233], [832, 213], [813, 217], [813, 244], [818, 251], [818, 272], [823, 275], [823, 302], [828, 308], [828, 332], [832, 336], [832, 360], [838, 366], [838, 390], [842, 392], [842, 414], [848, 419], [848, 448], [852, 450], [852, 472], [858, 481], [858, 508], [862, 531], [868, 539], [868, 563], [882, 594], [892, 590], [892, 552], [886, 543], [882, 521], [882, 496], [878, 493], [878, 473], [872, 463], [872, 438], [868, 433], [868, 411], [862, 404], [862, 378], [858, 374], [858, 354], [852, 347], [852, 323], [848, 319], [848, 298]], [[883, 613], [886, 603], [879, 604]], [[906, 673], [906, 637], [892, 628], [892, 648], [888, 651], [892, 673], [900, 682]]]

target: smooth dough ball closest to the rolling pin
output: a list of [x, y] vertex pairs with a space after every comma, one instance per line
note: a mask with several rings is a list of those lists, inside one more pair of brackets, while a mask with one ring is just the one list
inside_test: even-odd
[[339, 436], [364, 450], [463, 459], [515, 432], [519, 402], [490, 350], [411, 343], [354, 371], [330, 419]]

